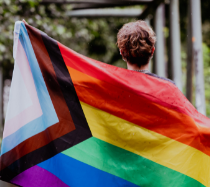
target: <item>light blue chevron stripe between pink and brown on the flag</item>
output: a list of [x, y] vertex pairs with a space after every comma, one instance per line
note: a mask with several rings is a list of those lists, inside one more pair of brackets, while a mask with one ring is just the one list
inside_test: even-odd
[[44, 131], [46, 128], [59, 121], [23, 22], [21, 23], [19, 39], [29, 61], [43, 115], [4, 138], [2, 141], [1, 154], [10, 151], [24, 140]]

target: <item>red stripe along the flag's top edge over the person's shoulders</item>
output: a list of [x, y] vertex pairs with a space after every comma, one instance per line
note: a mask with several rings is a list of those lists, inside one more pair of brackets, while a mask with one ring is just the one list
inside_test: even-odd
[[197, 112], [172, 83], [139, 72], [101, 63], [80, 55], [60, 43], [58, 45], [67, 66], [118, 88], [126, 88], [126, 90], [141, 95], [154, 103], [186, 114], [200, 125], [210, 127], [210, 119]]

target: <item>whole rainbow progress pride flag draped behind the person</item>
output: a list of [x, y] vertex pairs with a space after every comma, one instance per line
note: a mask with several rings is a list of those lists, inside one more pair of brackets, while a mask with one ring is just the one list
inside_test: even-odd
[[210, 186], [210, 119], [172, 83], [85, 57], [20, 21], [14, 59], [1, 180]]

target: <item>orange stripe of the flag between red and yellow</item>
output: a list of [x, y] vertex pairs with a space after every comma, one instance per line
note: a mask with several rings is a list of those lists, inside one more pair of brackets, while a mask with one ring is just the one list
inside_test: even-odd
[[210, 129], [182, 113], [68, 67], [80, 101], [210, 155]]

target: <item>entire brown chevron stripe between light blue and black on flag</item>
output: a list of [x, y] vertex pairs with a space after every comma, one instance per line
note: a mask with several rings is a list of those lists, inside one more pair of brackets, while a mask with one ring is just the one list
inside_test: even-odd
[[63, 93], [60, 89], [54, 68], [43, 43], [40, 32], [31, 26], [26, 25], [26, 28], [59, 122], [47, 128], [45, 131], [30, 137], [9, 152], [3, 154], [0, 158], [1, 170], [24, 155], [43, 147], [51, 141], [75, 130], [72, 117], [66, 105], [66, 101], [63, 97]]

